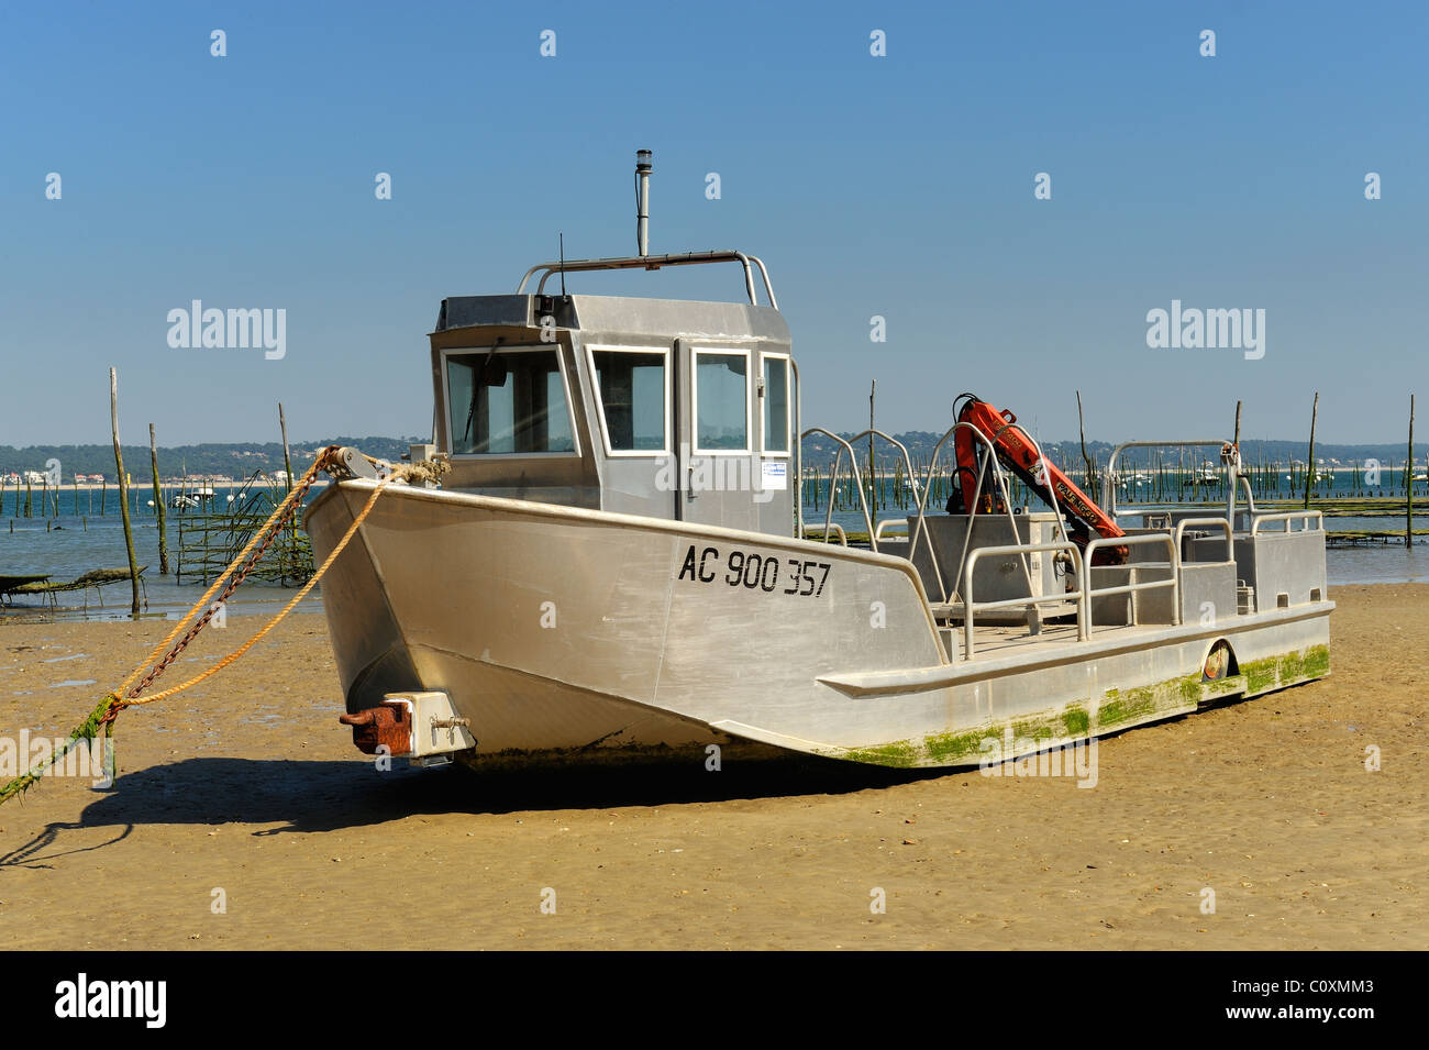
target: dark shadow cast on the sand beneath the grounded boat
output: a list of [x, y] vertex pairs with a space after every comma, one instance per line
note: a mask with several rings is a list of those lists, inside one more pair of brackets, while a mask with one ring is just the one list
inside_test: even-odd
[[[480, 773], [459, 766], [379, 773], [372, 763], [359, 760], [184, 759], [120, 774], [114, 789], [87, 804], [77, 821], [50, 824], [33, 843], [0, 854], [0, 869], [41, 860], [36, 850], [59, 844], [61, 830], [114, 827], [121, 830], [119, 839], [139, 824], [260, 826], [253, 834], [334, 831], [410, 816], [852, 794], [947, 774], [806, 757], [726, 760], [719, 770], [707, 770], [703, 763], [659, 763]], [[74, 787], [47, 781], [40, 790]]]

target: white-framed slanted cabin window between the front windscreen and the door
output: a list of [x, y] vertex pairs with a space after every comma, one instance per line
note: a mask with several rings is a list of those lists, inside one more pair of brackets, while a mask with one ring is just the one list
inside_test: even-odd
[[596, 401], [612, 456], [667, 453], [669, 444], [667, 350], [592, 347], [590, 370]]

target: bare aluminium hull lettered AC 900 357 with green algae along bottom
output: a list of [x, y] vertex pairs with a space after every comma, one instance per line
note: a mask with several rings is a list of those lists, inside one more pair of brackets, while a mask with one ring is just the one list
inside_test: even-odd
[[[373, 484], [314, 501], [320, 560]], [[1333, 609], [949, 660], [906, 559], [407, 486], [377, 499], [323, 596], [347, 710], [443, 691], [479, 761], [755, 741], [976, 766], [989, 740], [1010, 759], [1320, 677]], [[1219, 641], [1232, 673], [1206, 681]]]

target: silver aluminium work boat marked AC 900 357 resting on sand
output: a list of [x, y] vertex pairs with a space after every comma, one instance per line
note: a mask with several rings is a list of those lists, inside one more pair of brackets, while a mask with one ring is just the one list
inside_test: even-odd
[[[1103, 513], [1073, 507], [1086, 497], [1015, 421], [993, 440], [959, 419], [926, 471], [882, 431], [806, 429], [765, 263], [650, 254], [650, 170], [642, 154], [634, 256], [546, 261], [514, 293], [442, 300], [434, 433], [410, 450], [440, 481], [386, 484], [392, 464], [344, 450], [309, 506], [322, 563], [386, 486], [323, 580], [360, 750], [477, 769], [725, 747], [956, 769], [1329, 673], [1323, 521], [1240, 506], [1232, 443], [1119, 446]], [[737, 271], [747, 301], [564, 287], [674, 266]], [[870, 433], [902, 451], [922, 503], [885, 521], [865, 506], [856, 546], [805, 523], [800, 443], [832, 439], [835, 477], [862, 494], [853, 449]], [[1122, 529], [1116, 460], [1142, 446], [1219, 447], [1223, 513]], [[973, 513], [926, 506], [953, 453], [956, 510]], [[1049, 510], [1012, 506], [1013, 471]]]

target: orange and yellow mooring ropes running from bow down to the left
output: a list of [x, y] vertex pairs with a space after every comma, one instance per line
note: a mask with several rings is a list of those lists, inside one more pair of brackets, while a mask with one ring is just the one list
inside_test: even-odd
[[[113, 690], [111, 693], [107, 693], [104, 699], [99, 701], [99, 706], [89, 713], [89, 717], [86, 717], [84, 721], [81, 721], [74, 729], [73, 733], [70, 733], [63, 747], [56, 747], [54, 751], [44, 761], [37, 763], [21, 776], [14, 777], [4, 787], [0, 787], [0, 804], [6, 803], [7, 800], [13, 799], [17, 794], [23, 794], [41, 776], [44, 776], [44, 770], [61, 761], [64, 756], [67, 756], [71, 750], [74, 750], [74, 747], [79, 744], [80, 740], [93, 740], [101, 729], [104, 730], [106, 739], [113, 739], [114, 720], [119, 717], [119, 713], [123, 711], [126, 707], [151, 704], [159, 700], [166, 700], [171, 696], [183, 693], [186, 689], [191, 689], [197, 686], [200, 681], [213, 677], [224, 667], [231, 664], [234, 660], [240, 659], [244, 653], [253, 649], [253, 646], [256, 646], [263, 637], [266, 637], [274, 627], [277, 627], [283, 621], [283, 619], [287, 617], [287, 614], [297, 607], [297, 603], [302, 601], [304, 597], [307, 597], [307, 594], [313, 590], [313, 587], [317, 586], [317, 581], [323, 579], [323, 574], [332, 567], [333, 561], [337, 560], [337, 556], [343, 553], [343, 549], [347, 547], [352, 537], [357, 534], [357, 529], [362, 527], [362, 523], [367, 520], [367, 516], [372, 513], [372, 509], [377, 504], [377, 497], [382, 496], [383, 490], [386, 490], [389, 484], [392, 484], [399, 479], [434, 480], [440, 477], [443, 473], [442, 464], [432, 464], [432, 463], [410, 463], [392, 467], [390, 471], [379, 477], [376, 487], [372, 490], [372, 496], [367, 497], [367, 503], [363, 506], [362, 511], [359, 511], [353, 517], [353, 523], [347, 527], [347, 531], [343, 533], [343, 537], [333, 547], [333, 551], [323, 560], [323, 564], [317, 567], [317, 570], [313, 573], [309, 581], [303, 584], [302, 590], [299, 590], [297, 594], [293, 596], [292, 601], [283, 606], [283, 609], [277, 613], [277, 616], [269, 620], [252, 639], [239, 646], [239, 649], [229, 653], [226, 657], [219, 660], [216, 664], [209, 667], [201, 674], [197, 674], [189, 679], [189, 681], [184, 681], [179, 686], [173, 686], [171, 689], [166, 689], [163, 691], [153, 693], [150, 696], [141, 696], [141, 693], [146, 689], [149, 689], [149, 686], [151, 686], [176, 659], [179, 659], [179, 654], [189, 647], [189, 643], [191, 643], [199, 636], [199, 633], [209, 626], [209, 621], [213, 619], [213, 614], [217, 611], [219, 606], [223, 601], [226, 601], [233, 594], [233, 591], [239, 589], [239, 586], [242, 586], [242, 583], [247, 579], [249, 573], [253, 571], [254, 566], [257, 566], [257, 563], [263, 560], [263, 556], [267, 553], [269, 547], [273, 546], [273, 541], [277, 539], [277, 536], [289, 526], [289, 521], [292, 520], [297, 507], [302, 506], [303, 499], [307, 496], [309, 489], [312, 489], [313, 483], [317, 480], [317, 474], [323, 470], [327, 470], [327, 467], [330, 467], [334, 463], [337, 451], [339, 447], [333, 444], [323, 449], [317, 454], [317, 457], [313, 460], [313, 464], [303, 473], [302, 480], [296, 486], [293, 486], [293, 489], [283, 499], [283, 501], [277, 504], [277, 507], [269, 516], [267, 521], [263, 523], [263, 527], [253, 534], [253, 539], [249, 540], [249, 543], [243, 547], [243, 550], [240, 550], [239, 554], [233, 559], [233, 561], [229, 563], [229, 567], [223, 571], [223, 574], [217, 580], [213, 581], [213, 586], [209, 587], [207, 591], [204, 591], [203, 597], [199, 599], [193, 604], [193, 607], [183, 616], [183, 619], [179, 620], [177, 626], [171, 631], [169, 631], [169, 637], [166, 637], [154, 647], [154, 650], [149, 654], [149, 657], [146, 657], [129, 674], [129, 677], [124, 679], [123, 683], [120, 683], [119, 689]], [[370, 456], [367, 456], [366, 459], [372, 463], [376, 463], [376, 460], [373, 460]], [[220, 591], [220, 587], [223, 590], [219, 600], [211, 601], [213, 596]], [[183, 634], [183, 637], [177, 643], [174, 643], [174, 639], [177, 639], [180, 634]], [[166, 649], [169, 650], [167, 653], [164, 653]], [[160, 654], [163, 654], [161, 659]], [[146, 667], [149, 667], [147, 674], [144, 674]], [[143, 677], [140, 677], [141, 674]], [[110, 770], [113, 770], [113, 747], [107, 747], [106, 751], [109, 756]]]

